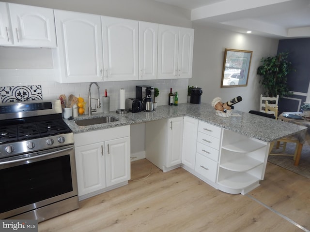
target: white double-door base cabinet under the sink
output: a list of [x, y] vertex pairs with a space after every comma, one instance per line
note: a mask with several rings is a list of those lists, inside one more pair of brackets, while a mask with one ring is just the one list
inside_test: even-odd
[[130, 126], [78, 133], [74, 137], [79, 200], [128, 184]]

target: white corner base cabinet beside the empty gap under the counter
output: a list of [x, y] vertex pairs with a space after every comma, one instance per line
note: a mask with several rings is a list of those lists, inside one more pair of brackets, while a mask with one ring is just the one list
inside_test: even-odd
[[183, 117], [145, 123], [145, 158], [163, 172], [181, 166]]

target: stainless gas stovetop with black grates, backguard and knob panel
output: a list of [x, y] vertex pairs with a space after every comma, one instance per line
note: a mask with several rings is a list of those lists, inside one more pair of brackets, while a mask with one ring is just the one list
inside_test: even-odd
[[73, 143], [60, 100], [0, 104], [0, 159]]

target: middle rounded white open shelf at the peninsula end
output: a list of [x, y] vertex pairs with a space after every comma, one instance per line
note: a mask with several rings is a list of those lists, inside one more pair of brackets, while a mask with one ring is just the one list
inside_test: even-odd
[[222, 163], [220, 167], [234, 172], [246, 172], [261, 164], [263, 164], [263, 162], [259, 160], [252, 159], [248, 156], [243, 156], [237, 160], [226, 161], [225, 163]]

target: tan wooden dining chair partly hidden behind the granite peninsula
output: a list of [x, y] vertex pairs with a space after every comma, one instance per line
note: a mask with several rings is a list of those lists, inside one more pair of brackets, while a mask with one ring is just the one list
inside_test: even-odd
[[[267, 113], [267, 111], [274, 112], [275, 119], [278, 119], [278, 106], [276, 106], [276, 107], [270, 106], [268, 104], [268, 101], [266, 101], [265, 102], [265, 113]], [[294, 154], [283, 154], [283, 152], [286, 150], [286, 144], [287, 143], [295, 143], [296, 144]], [[302, 146], [302, 144], [299, 142], [299, 140], [297, 138], [294, 138], [293, 136], [287, 137], [287, 138], [281, 138], [281, 139], [278, 139], [277, 143], [276, 143], [277, 149], [282, 148], [281, 152], [277, 153], [275, 151], [273, 151], [273, 152], [270, 151], [269, 155], [273, 155], [273, 156], [294, 156], [294, 160], [295, 160], [296, 156], [298, 154], [298, 148], [300, 146]]]

